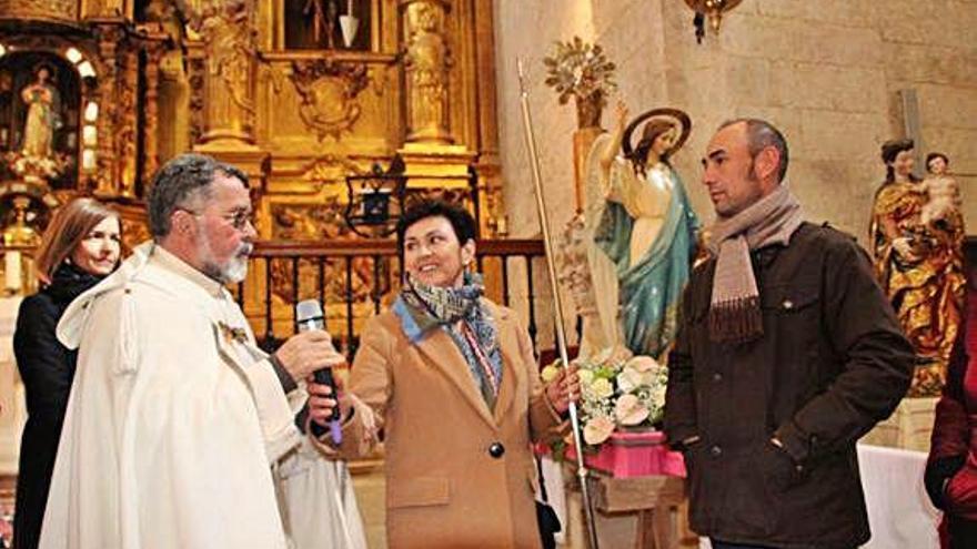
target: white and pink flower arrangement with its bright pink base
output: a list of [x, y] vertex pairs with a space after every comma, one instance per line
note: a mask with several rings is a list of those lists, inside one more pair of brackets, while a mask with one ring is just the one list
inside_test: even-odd
[[655, 429], [665, 413], [668, 369], [622, 348], [604, 349], [575, 364], [587, 466], [615, 477], [684, 476], [682, 456], [668, 451], [664, 434]]

